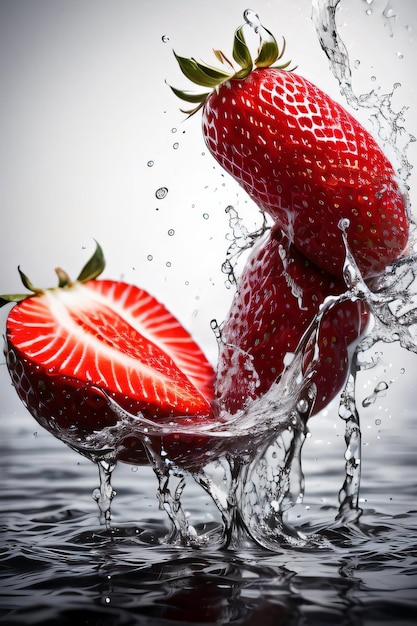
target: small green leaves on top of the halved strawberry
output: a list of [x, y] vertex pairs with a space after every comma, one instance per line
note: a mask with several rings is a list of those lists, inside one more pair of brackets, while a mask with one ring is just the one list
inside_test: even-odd
[[[60, 267], [55, 268], [55, 273], [58, 276], [58, 289], [72, 287], [74, 285], [74, 282], [87, 283], [90, 280], [94, 280], [103, 272], [105, 265], [106, 262], [104, 259], [103, 250], [100, 244], [96, 241], [96, 249], [94, 251], [94, 254], [84, 265], [76, 281], [72, 281], [68, 274]], [[9, 302], [22, 302], [22, 300], [26, 300], [26, 298], [31, 298], [32, 296], [41, 296], [46, 291], [48, 291], [48, 289], [39, 289], [38, 287], [34, 287], [26, 274], [22, 272], [20, 267], [18, 267], [17, 269], [23, 286], [26, 287], [26, 289], [28, 289], [31, 293], [13, 293], [0, 295], [0, 307], [8, 304]], [[50, 289], [56, 288], [57, 287], [52, 287]]]

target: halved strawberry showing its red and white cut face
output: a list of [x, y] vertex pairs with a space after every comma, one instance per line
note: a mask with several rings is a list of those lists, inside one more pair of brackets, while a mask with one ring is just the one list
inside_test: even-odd
[[1, 296], [17, 302], [5, 354], [30, 413], [70, 445], [117, 423], [109, 397], [147, 418], [210, 415], [214, 372], [200, 348], [142, 289], [97, 280], [103, 268], [97, 245], [76, 281], [58, 269], [58, 287], [36, 289], [20, 272], [33, 293]]

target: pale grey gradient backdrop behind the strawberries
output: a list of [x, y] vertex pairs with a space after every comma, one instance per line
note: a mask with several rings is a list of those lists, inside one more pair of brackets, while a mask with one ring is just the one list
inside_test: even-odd
[[[383, 17], [387, 5], [395, 17]], [[208, 61], [212, 47], [228, 53], [246, 8], [239, 0], [0, 0], [0, 293], [21, 290], [18, 265], [39, 286], [55, 284], [57, 265], [75, 277], [95, 238], [104, 276], [151, 291], [215, 362], [209, 322], [224, 318], [232, 297], [220, 271], [224, 209], [233, 204], [250, 229], [261, 220], [206, 153], [200, 117], [185, 120], [165, 80], [188, 87], [172, 48]], [[310, 0], [250, 8], [285, 34], [297, 71], [343, 102]], [[405, 126], [417, 135], [415, 0], [342, 0], [338, 23], [356, 93], [401, 83], [394, 105], [409, 107]], [[355, 114], [369, 127], [366, 111]], [[417, 162], [416, 144], [408, 157]], [[161, 186], [169, 192], [157, 200]], [[0, 414], [18, 409], [3, 361]]]

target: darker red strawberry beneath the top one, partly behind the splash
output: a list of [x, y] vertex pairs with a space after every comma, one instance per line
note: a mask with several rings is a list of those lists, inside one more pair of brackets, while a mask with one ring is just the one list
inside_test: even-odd
[[[222, 328], [217, 379], [220, 406], [230, 413], [269, 390], [281, 375], [324, 299], [346, 291], [337, 277], [317, 268], [278, 229], [257, 243], [240, 277]], [[323, 317], [314, 413], [340, 391], [348, 373], [348, 346], [368, 319], [362, 301], [346, 301]], [[306, 352], [304, 371], [313, 350]]]

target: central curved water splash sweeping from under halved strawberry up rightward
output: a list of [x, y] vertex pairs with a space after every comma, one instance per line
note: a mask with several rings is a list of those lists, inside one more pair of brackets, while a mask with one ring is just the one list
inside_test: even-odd
[[[354, 271], [351, 268], [352, 275]], [[97, 444], [113, 445], [116, 458], [129, 438], [146, 447], [159, 481], [161, 506], [173, 524], [171, 539], [175, 537], [175, 541], [187, 545], [206, 541], [188, 526], [181, 508], [185, 473], [194, 477], [219, 509], [223, 531], [218, 541], [222, 545], [236, 545], [243, 529], [247, 536], [270, 549], [282, 543], [317, 543], [316, 537], [306, 537], [285, 519], [286, 512], [303, 497], [301, 451], [316, 397], [311, 379], [319, 351], [303, 372], [304, 354], [308, 345], [317, 345], [320, 325], [328, 311], [341, 299], [359, 297], [362, 291], [360, 277], [355, 275], [346, 294], [326, 298], [280, 379], [268, 393], [234, 415], [222, 414], [217, 420], [201, 423], [185, 417], [166, 423], [131, 415], [108, 398], [119, 418], [118, 427], [98, 433]], [[184, 445], [178, 446], [181, 442]], [[135, 462], [135, 455], [122, 460]], [[213, 467], [223, 469], [220, 481], [210, 477]], [[170, 487], [173, 479], [180, 479], [174, 490]]]

